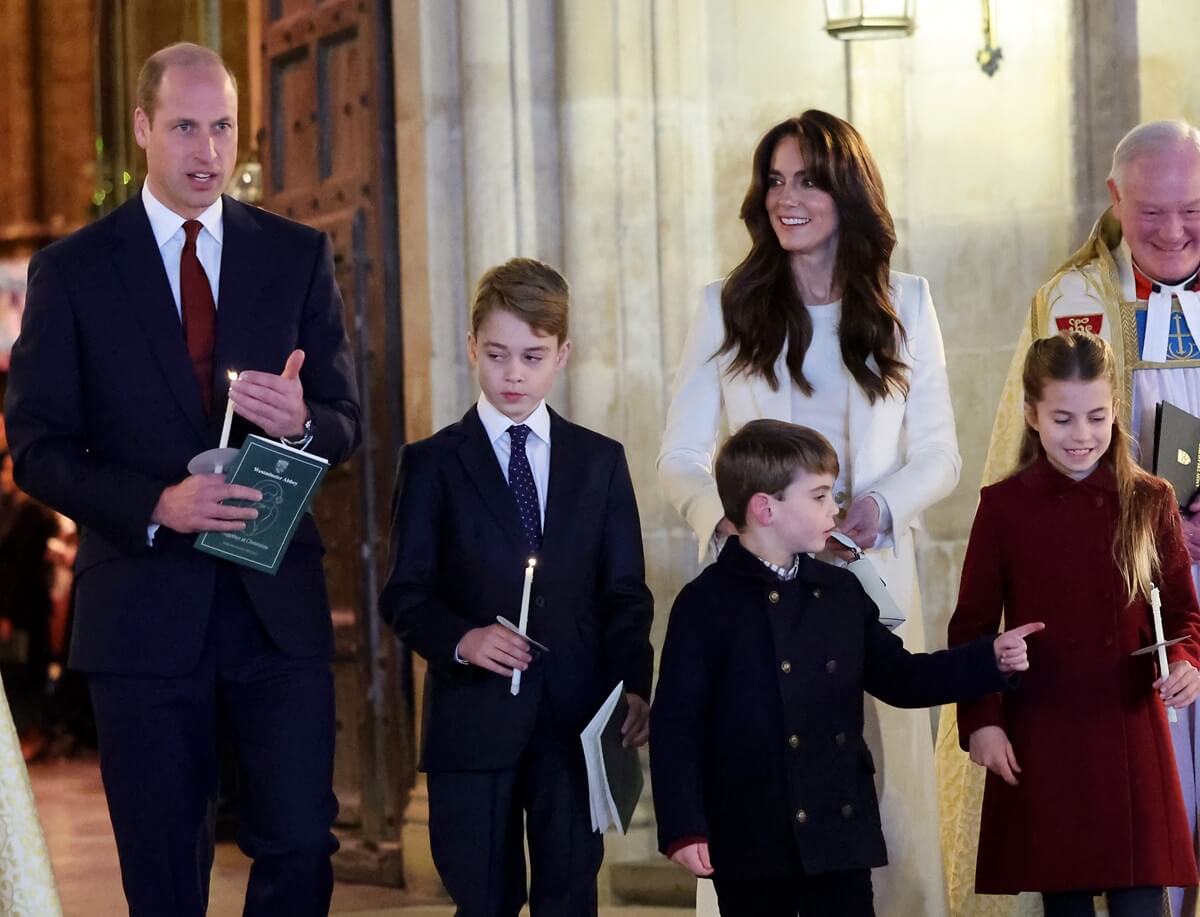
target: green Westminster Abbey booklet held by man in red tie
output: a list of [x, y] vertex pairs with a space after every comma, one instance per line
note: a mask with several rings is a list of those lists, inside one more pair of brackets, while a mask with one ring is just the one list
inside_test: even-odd
[[226, 501], [227, 505], [254, 507], [258, 519], [246, 522], [242, 532], [202, 532], [196, 547], [253, 570], [274, 574], [280, 569], [300, 516], [308, 509], [329, 462], [253, 433], [246, 437], [233, 460], [226, 480], [253, 487], [260, 503]]

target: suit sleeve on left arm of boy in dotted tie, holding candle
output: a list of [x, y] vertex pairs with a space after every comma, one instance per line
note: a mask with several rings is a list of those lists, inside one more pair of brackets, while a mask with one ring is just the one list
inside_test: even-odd
[[457, 665], [455, 647], [475, 625], [455, 613], [436, 587], [438, 528], [445, 511], [437, 460], [427, 443], [401, 449], [392, 497], [391, 575], [379, 597], [379, 613], [431, 664]]

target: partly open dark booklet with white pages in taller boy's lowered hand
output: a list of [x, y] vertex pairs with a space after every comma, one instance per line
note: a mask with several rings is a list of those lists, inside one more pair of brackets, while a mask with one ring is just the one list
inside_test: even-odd
[[618, 682], [580, 735], [588, 768], [592, 829], [601, 833], [614, 827], [625, 834], [642, 796], [644, 778], [637, 749], [622, 744], [620, 727], [628, 714], [625, 683]]

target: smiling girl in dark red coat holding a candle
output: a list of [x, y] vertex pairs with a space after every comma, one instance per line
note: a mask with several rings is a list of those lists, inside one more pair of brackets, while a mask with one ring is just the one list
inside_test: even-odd
[[[1040, 892], [1046, 917], [1159, 917], [1164, 886], [1194, 886], [1165, 707], [1200, 694], [1200, 612], [1175, 495], [1141, 471], [1115, 400], [1112, 350], [1072, 332], [1025, 361], [1018, 471], [984, 487], [950, 646], [1044, 621], [1004, 696], [960, 703], [959, 737], [990, 772], [976, 891]], [[1165, 679], [1147, 597], [1162, 592]], [[1165, 705], [1165, 706], [1164, 706]]]

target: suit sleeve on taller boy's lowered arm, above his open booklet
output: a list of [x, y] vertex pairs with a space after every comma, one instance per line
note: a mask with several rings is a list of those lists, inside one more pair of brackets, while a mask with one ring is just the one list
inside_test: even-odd
[[616, 684], [623, 678], [626, 691], [648, 701], [654, 671], [654, 648], [650, 646], [654, 598], [646, 586], [637, 498], [625, 450], [620, 446], [608, 483], [601, 577], [608, 681]]

